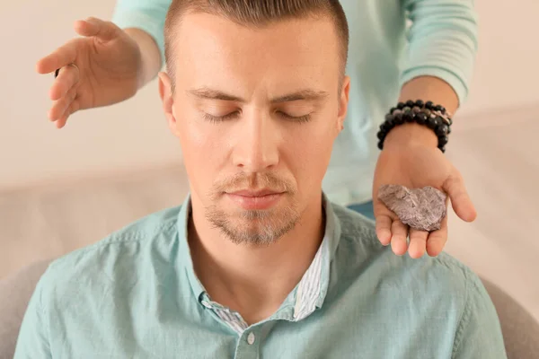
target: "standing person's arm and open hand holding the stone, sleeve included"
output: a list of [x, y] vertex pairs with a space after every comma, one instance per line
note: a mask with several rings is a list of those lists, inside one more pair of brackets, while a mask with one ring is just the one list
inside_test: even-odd
[[[477, 22], [473, 0], [402, 0], [411, 20], [408, 57], [402, 75], [401, 101], [423, 100], [443, 105], [449, 112], [468, 95], [477, 51]], [[427, 250], [437, 256], [447, 241], [447, 220], [435, 232], [410, 231], [377, 199], [386, 183], [411, 188], [432, 186], [451, 198], [456, 215], [466, 222], [475, 219], [475, 208], [459, 171], [437, 150], [437, 136], [428, 127], [406, 123], [394, 127], [384, 140], [373, 181], [376, 234], [397, 254], [410, 251], [420, 258]], [[410, 244], [406, 241], [410, 234]]]

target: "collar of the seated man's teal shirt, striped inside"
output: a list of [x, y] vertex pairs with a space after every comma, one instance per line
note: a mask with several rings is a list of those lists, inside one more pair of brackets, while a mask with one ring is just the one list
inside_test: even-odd
[[[340, 240], [340, 222], [335, 215], [331, 202], [323, 194], [323, 208], [325, 214], [325, 232], [320, 248], [314, 256], [311, 266], [307, 268], [305, 275], [288, 299], [295, 303], [294, 319], [302, 320], [311, 314], [315, 308], [322, 307], [325, 296], [328, 292], [331, 272], [331, 260], [334, 258], [335, 250]], [[205, 297], [206, 290], [195, 274], [187, 232], [191, 214], [190, 195], [185, 198], [178, 215], [177, 231], [179, 240], [179, 251], [181, 266], [184, 268], [191, 286], [191, 290], [199, 303]], [[290, 296], [292, 296], [290, 298]]]

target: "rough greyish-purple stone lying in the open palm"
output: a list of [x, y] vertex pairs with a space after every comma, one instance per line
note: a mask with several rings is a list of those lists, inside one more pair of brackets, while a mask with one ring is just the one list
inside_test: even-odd
[[398, 215], [402, 223], [420, 231], [436, 231], [447, 214], [446, 194], [430, 186], [409, 189], [400, 185], [384, 185], [378, 199]]

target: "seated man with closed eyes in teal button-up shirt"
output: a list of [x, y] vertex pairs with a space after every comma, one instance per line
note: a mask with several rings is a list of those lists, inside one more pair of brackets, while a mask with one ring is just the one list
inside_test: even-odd
[[505, 357], [477, 276], [394, 256], [323, 195], [349, 101], [340, 4], [256, 4], [172, 3], [159, 90], [190, 196], [55, 261], [15, 358]]

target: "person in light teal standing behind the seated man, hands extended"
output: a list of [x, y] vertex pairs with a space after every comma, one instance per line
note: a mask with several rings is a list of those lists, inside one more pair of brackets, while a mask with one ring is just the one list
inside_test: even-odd
[[[82, 37], [69, 40], [37, 64], [41, 74], [61, 68], [49, 92], [49, 118], [57, 127], [64, 127], [80, 109], [127, 100], [163, 66], [163, 26], [171, 0], [116, 3], [113, 22], [75, 22]], [[451, 113], [464, 103], [477, 50], [473, 0], [340, 4], [351, 20], [347, 74], [353, 86], [347, 125], [333, 146], [323, 190], [332, 202], [376, 217], [380, 242], [391, 244], [395, 254], [437, 256], [447, 241], [447, 222], [434, 232], [409, 229], [377, 198], [377, 190], [387, 182], [441, 189], [451, 198], [455, 214], [471, 222], [475, 209], [464, 180], [437, 149], [437, 136], [429, 128], [393, 128], [382, 152], [376, 132], [397, 100], [433, 101]]]

